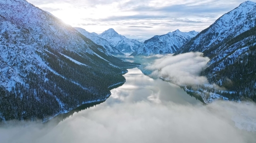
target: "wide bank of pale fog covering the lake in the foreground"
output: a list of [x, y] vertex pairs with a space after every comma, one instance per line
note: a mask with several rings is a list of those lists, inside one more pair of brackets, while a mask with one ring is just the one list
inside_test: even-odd
[[75, 113], [55, 127], [2, 128], [0, 143], [252, 143], [255, 133], [239, 130], [231, 118], [237, 115], [243, 126], [255, 128], [246, 122], [256, 118], [255, 110], [252, 103], [232, 102], [207, 106], [147, 101], [101, 104]]

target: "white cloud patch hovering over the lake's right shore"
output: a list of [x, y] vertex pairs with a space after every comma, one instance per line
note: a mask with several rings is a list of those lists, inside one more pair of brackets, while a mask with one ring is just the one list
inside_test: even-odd
[[203, 57], [202, 53], [191, 52], [177, 56], [163, 56], [147, 66], [146, 69], [153, 70], [151, 76], [164, 76], [181, 84], [196, 85], [208, 83], [206, 77], [199, 76], [207, 62], [209, 62], [209, 58]]

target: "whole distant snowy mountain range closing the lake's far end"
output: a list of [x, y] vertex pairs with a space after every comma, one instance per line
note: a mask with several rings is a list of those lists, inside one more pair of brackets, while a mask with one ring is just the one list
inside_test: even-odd
[[181, 32], [179, 30], [168, 32], [165, 35], [154, 36], [148, 40], [129, 39], [118, 34], [110, 28], [101, 34], [89, 33], [82, 28], [75, 28], [94, 43], [103, 46], [109, 53], [118, 54], [132, 53], [131, 56], [148, 56], [155, 54], [175, 53], [179, 48], [195, 37], [199, 32]]

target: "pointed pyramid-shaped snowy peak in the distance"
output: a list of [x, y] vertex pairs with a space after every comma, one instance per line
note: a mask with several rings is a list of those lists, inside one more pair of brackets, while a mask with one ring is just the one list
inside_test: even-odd
[[127, 37], [118, 34], [112, 28], [102, 32], [99, 36], [108, 40], [108, 42], [110, 42], [116, 49], [123, 53], [132, 53], [143, 45], [135, 39], [128, 39]]

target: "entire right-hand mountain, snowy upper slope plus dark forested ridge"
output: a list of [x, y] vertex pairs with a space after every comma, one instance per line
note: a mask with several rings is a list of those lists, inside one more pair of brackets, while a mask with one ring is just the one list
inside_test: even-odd
[[204, 53], [211, 60], [202, 75], [229, 91], [219, 94], [230, 100], [249, 97], [256, 101], [255, 26], [256, 3], [245, 1], [192, 38], [176, 54]]

